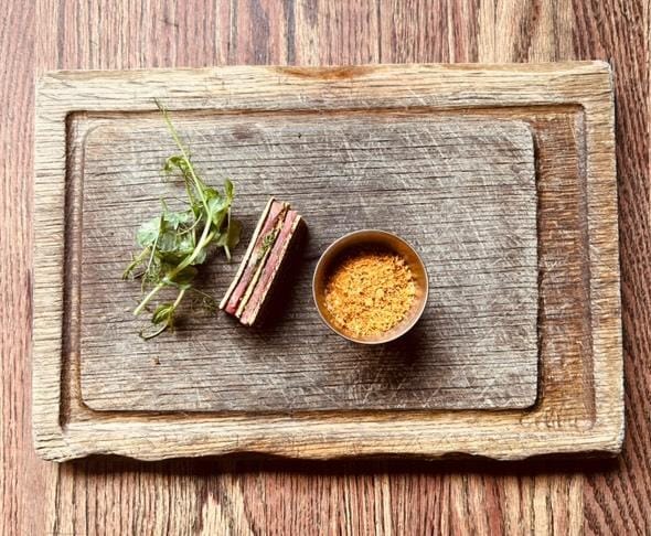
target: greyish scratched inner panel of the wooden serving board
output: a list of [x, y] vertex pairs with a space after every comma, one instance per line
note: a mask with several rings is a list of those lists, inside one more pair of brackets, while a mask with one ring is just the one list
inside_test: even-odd
[[[246, 243], [269, 195], [306, 218], [309, 240], [274, 321], [246, 329], [196, 311], [173, 335], [142, 341], [130, 314], [139, 282], [119, 275], [143, 218], [182, 186], [161, 179], [174, 153], [162, 118], [81, 117], [81, 367], [98, 410], [522, 408], [537, 394], [537, 254], [533, 139], [522, 121], [431, 114], [175, 116], [212, 182], [236, 184]], [[117, 225], [116, 225], [117, 222]], [[398, 233], [431, 272], [408, 336], [361, 346], [320, 321], [320, 254], [360, 228]], [[216, 296], [237, 262], [216, 258]], [[194, 308], [196, 309], [196, 308]], [[186, 313], [186, 317], [190, 317]], [[181, 317], [181, 321], [183, 317]], [[146, 319], [148, 321], [148, 319]]]

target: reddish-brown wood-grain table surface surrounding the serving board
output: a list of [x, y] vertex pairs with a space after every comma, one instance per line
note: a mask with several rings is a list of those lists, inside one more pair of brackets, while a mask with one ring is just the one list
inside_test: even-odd
[[[649, 0], [3, 1], [0, 533], [651, 534]], [[613, 461], [39, 460], [30, 431], [34, 76], [55, 68], [608, 60], [627, 435]]]

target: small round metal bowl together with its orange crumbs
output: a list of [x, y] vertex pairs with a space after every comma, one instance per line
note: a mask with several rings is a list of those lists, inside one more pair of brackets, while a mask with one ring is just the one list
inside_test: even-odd
[[312, 279], [326, 325], [361, 344], [387, 343], [407, 333], [425, 310], [428, 288], [427, 270], [414, 247], [375, 229], [335, 240]]

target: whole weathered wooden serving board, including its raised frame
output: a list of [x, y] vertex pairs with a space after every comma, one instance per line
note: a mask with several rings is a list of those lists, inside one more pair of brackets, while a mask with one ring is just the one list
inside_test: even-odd
[[[236, 183], [245, 240], [268, 195], [306, 217], [282, 313], [265, 328], [198, 313], [137, 336], [138, 285], [119, 275], [139, 223], [179, 187], [161, 178], [173, 146], [153, 98], [204, 178]], [[607, 65], [52, 73], [36, 144], [42, 455], [619, 449]], [[417, 329], [374, 349], [330, 333], [310, 297], [320, 253], [363, 227], [407, 238], [430, 271]], [[235, 269], [214, 259], [204, 290], [218, 297]]]

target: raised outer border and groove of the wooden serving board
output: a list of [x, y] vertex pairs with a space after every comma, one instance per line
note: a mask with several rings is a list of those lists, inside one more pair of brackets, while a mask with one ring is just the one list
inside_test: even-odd
[[[169, 99], [183, 116], [190, 115], [185, 110], [199, 115], [317, 110], [331, 118], [334, 112], [371, 110], [418, 112], [450, 122], [527, 122], [538, 175], [536, 405], [499, 412], [290, 415], [90, 409], [82, 398], [79, 352], [85, 344], [79, 315], [84, 266], [71, 262], [82, 258], [83, 242], [75, 235], [82, 211], [74, 201], [81, 193], [71, 180], [81, 170], [72, 168], [85, 159], [67, 146], [66, 182], [65, 127], [70, 141], [76, 136], [78, 112], [106, 119], [151, 115], [153, 97]], [[67, 459], [115, 452], [153, 459], [262, 451], [329, 458], [453, 452], [514, 459], [620, 448], [619, 269], [607, 65], [53, 73], [39, 88], [36, 143], [34, 428], [43, 455]]]

